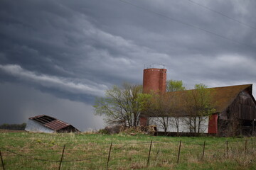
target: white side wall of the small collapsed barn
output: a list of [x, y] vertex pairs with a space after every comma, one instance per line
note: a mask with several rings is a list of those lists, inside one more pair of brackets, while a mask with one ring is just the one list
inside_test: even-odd
[[54, 130], [44, 127], [40, 123], [36, 122], [35, 120], [28, 119], [26, 128], [28, 132], [46, 132], [46, 133], [53, 133]]

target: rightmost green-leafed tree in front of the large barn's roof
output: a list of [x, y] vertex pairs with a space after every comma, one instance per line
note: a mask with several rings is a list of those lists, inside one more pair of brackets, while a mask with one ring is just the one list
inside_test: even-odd
[[186, 112], [189, 118], [185, 120], [190, 132], [203, 131], [203, 121], [207, 115], [215, 112], [214, 103], [212, 103], [213, 89], [207, 89], [204, 84], [196, 84], [194, 90], [190, 90], [186, 95]]

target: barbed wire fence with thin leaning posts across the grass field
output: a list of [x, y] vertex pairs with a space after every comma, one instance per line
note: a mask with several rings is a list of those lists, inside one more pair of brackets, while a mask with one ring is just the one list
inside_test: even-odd
[[[96, 148], [97, 151], [95, 151]], [[33, 149], [21, 149], [21, 151], [24, 153], [0, 147], [2, 169], [15, 169], [8, 163], [9, 159], [14, 157], [26, 159], [29, 162], [43, 162], [46, 165], [55, 164], [55, 166], [50, 166], [50, 169], [70, 169], [70, 166], [85, 166], [87, 169], [118, 169], [124, 165], [129, 165], [128, 169], [139, 169], [159, 164], [203, 162], [205, 159], [213, 158], [233, 159], [242, 154], [255, 154], [256, 152], [254, 140], [225, 140], [222, 142], [206, 140], [201, 142], [196, 140], [157, 142], [151, 140], [149, 142], [116, 144], [111, 142], [110, 145], [99, 144], [85, 147], [85, 149], [68, 148], [67, 145], [64, 145], [63, 147], [58, 146], [54, 150], [46, 148], [37, 151], [48, 158], [33, 153]], [[75, 157], [78, 159], [68, 159], [70, 155], [76, 155]], [[77, 165], [79, 162], [82, 162], [82, 165]]]

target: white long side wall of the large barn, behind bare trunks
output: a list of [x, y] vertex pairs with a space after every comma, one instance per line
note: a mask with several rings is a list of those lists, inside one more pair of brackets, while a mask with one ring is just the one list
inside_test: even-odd
[[[164, 117], [165, 119], [169, 118], [169, 126], [167, 128], [167, 132], [177, 132], [177, 128], [174, 124], [174, 117]], [[209, 116], [203, 116], [201, 122], [201, 130], [200, 132], [208, 133], [208, 123], [209, 123]], [[164, 132], [164, 128], [161, 127], [160, 123], [161, 117], [150, 117], [149, 118], [149, 125], [156, 125], [157, 131]], [[189, 128], [186, 122], [188, 122], [188, 117], [179, 117], [178, 120], [178, 132], [189, 132]], [[197, 117], [196, 122], [196, 129], [198, 130], [198, 120]]]

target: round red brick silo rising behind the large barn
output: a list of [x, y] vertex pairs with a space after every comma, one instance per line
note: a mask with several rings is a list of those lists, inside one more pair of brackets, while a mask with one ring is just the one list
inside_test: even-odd
[[144, 69], [143, 93], [155, 91], [161, 94], [166, 92], [166, 69]]

